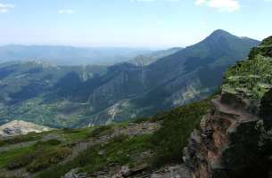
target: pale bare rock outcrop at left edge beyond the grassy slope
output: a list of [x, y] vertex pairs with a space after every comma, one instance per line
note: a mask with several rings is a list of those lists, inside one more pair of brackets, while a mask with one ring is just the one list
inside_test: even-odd
[[42, 125], [35, 125], [21, 120], [13, 120], [12, 122], [0, 126], [0, 136], [41, 133], [49, 130], [51, 130], [49, 127]]

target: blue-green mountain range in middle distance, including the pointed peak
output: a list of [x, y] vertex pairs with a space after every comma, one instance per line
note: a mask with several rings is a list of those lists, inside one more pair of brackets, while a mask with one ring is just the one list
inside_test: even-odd
[[16, 118], [77, 127], [149, 116], [214, 93], [224, 71], [258, 44], [216, 30], [185, 49], [144, 53], [143, 60], [138, 57], [108, 68], [3, 63], [0, 122]]

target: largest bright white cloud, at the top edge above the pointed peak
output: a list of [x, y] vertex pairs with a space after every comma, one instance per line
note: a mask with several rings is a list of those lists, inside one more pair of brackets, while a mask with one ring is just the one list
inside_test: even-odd
[[240, 9], [238, 0], [196, 0], [196, 5], [206, 5], [218, 12], [235, 12]]

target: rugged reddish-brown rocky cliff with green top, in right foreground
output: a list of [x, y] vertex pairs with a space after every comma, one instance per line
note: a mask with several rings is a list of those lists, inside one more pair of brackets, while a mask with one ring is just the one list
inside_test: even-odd
[[222, 92], [191, 135], [185, 163], [194, 178], [270, 177], [272, 36], [225, 74]]

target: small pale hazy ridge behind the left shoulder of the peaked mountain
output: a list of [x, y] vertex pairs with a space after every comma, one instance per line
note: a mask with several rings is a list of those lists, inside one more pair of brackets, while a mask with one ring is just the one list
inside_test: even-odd
[[168, 50], [161, 50], [156, 51], [152, 53], [146, 53], [136, 56], [133, 60], [129, 61], [132, 64], [135, 64], [136, 66], [147, 66], [155, 61], [158, 61], [159, 59], [166, 57], [168, 55], [171, 55], [173, 53], [177, 53], [178, 51], [182, 50], [181, 47], [173, 47]]

